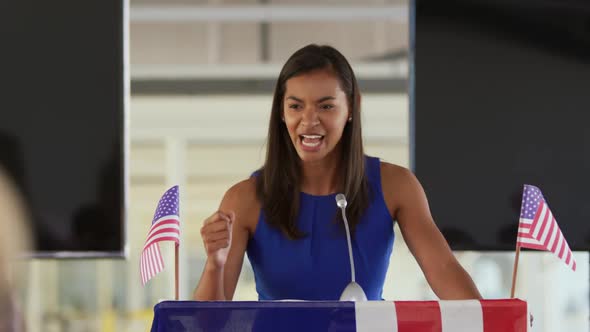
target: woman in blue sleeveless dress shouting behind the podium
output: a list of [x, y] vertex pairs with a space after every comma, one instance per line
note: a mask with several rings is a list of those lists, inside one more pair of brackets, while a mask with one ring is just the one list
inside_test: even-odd
[[231, 187], [204, 221], [207, 263], [194, 298], [231, 300], [247, 252], [260, 300], [337, 300], [350, 282], [339, 192], [348, 201], [356, 279], [369, 300], [381, 299], [396, 220], [438, 297], [481, 297], [414, 175], [364, 155], [348, 61], [332, 47], [308, 45], [279, 75], [264, 166]]

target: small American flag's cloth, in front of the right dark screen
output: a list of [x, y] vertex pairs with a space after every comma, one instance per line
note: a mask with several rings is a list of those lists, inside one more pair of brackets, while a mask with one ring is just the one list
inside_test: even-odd
[[524, 185], [516, 244], [525, 248], [551, 251], [572, 270], [576, 270], [572, 251], [557, 226], [557, 221], [541, 190], [528, 184]]

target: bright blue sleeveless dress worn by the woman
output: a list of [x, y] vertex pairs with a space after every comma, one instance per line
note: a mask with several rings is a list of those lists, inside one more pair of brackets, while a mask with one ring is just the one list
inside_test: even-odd
[[[356, 281], [369, 300], [381, 300], [393, 249], [393, 218], [381, 189], [378, 158], [366, 157], [370, 204], [352, 238]], [[248, 242], [259, 300], [338, 300], [350, 282], [344, 227], [334, 222], [336, 194], [300, 194], [298, 227], [306, 237], [289, 240], [260, 212]]]

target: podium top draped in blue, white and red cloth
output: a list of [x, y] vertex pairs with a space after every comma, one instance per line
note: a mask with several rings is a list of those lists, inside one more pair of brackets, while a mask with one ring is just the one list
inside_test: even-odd
[[152, 332], [527, 332], [527, 303], [461, 301], [164, 301]]

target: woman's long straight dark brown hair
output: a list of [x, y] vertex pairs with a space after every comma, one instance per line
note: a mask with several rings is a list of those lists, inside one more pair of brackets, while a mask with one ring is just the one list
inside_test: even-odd
[[[342, 190], [348, 201], [346, 214], [353, 231], [369, 204], [361, 134], [360, 93], [352, 67], [333, 47], [315, 44], [305, 46], [287, 60], [279, 74], [268, 126], [266, 161], [256, 178], [256, 194], [266, 221], [279, 228], [289, 239], [302, 238], [305, 234], [296, 225], [301, 191], [301, 159], [281, 120], [283, 99], [287, 80], [320, 69], [329, 69], [338, 77], [351, 111], [352, 121], [346, 123], [339, 144], [344, 177]], [[337, 218], [341, 220], [340, 212]]]

